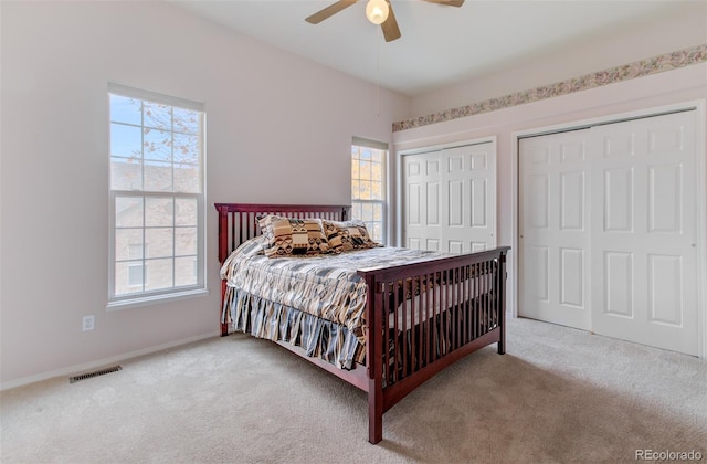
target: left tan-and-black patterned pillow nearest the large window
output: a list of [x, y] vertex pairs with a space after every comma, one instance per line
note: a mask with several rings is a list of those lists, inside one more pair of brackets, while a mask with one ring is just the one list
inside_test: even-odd
[[295, 219], [268, 214], [257, 219], [266, 238], [265, 256], [320, 254], [329, 251], [320, 219]]

